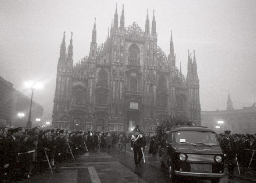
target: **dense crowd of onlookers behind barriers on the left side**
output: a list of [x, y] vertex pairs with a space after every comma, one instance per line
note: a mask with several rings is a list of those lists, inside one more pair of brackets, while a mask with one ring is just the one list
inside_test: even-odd
[[[61, 172], [61, 162], [77, 160], [85, 153], [109, 152], [113, 147], [125, 153], [131, 136], [132, 132], [122, 131], [0, 128], [0, 183], [4, 179], [29, 179], [53, 167]], [[150, 135], [144, 136], [148, 144]]]

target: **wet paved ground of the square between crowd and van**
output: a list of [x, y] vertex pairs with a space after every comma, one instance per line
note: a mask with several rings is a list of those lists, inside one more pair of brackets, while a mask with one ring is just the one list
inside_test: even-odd
[[[128, 144], [127, 144], [128, 145]], [[128, 147], [127, 147], [128, 149]], [[152, 157], [148, 153], [148, 147], [145, 149], [145, 161], [141, 167], [135, 167], [133, 153], [127, 150], [121, 153], [118, 147], [107, 152], [90, 152], [84, 156], [80, 156], [75, 162], [70, 161], [61, 166], [62, 172], [53, 174], [50, 170], [43, 173], [32, 175], [30, 179], [26, 179], [24, 183], [132, 183], [132, 182], [149, 182], [163, 183], [170, 182], [167, 168], [161, 167], [160, 158]], [[202, 182], [210, 183], [206, 180], [198, 179], [182, 179], [176, 182]], [[220, 183], [247, 183], [249, 181], [237, 179], [229, 180], [228, 177], [220, 179]]]

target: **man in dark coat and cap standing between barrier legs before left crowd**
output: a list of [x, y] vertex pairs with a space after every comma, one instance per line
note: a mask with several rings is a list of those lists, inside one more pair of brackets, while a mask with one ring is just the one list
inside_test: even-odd
[[64, 130], [59, 131], [59, 136], [56, 139], [56, 150], [55, 150], [55, 167], [56, 173], [61, 172], [60, 171], [60, 163], [65, 159], [66, 155], [66, 148], [67, 148], [67, 141], [64, 138]]

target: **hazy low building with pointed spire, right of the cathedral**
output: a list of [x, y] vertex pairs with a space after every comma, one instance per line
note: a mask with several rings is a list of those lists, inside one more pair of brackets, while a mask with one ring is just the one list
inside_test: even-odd
[[[218, 121], [223, 121], [223, 123], [220, 124]], [[228, 93], [227, 110], [201, 111], [201, 125], [215, 130], [216, 133], [223, 133], [225, 130], [230, 130], [233, 134], [256, 133], [255, 101], [252, 107], [234, 110]]]

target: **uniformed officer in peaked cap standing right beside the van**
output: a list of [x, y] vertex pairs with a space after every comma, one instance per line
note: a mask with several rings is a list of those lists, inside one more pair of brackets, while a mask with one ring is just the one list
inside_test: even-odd
[[220, 140], [220, 147], [226, 157], [228, 164], [229, 179], [233, 179], [234, 168], [236, 166], [236, 143], [229, 130], [224, 131], [225, 137]]

